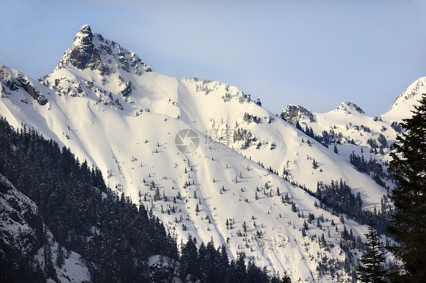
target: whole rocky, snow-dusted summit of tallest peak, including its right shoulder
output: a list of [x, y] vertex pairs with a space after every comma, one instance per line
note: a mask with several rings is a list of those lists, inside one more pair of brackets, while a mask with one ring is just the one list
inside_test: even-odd
[[[122, 73], [123, 70], [126, 75]], [[82, 74], [80, 71], [86, 74], [84, 79], [80, 77]], [[151, 71], [151, 68], [133, 51], [121, 47], [113, 40], [105, 39], [101, 34], [93, 34], [90, 26], [84, 25], [75, 35], [73, 43], [64, 52], [52, 74], [39, 81], [55, 91], [71, 96], [87, 95], [84, 89], [86, 87], [92, 89], [95, 78], [102, 86], [118, 81], [118, 85], [123, 87], [113, 92], [118, 91], [123, 96], [128, 96], [132, 82], [124, 81], [123, 75], [130, 76], [128, 78], [130, 80], [132, 73], [140, 77], [144, 72]]]

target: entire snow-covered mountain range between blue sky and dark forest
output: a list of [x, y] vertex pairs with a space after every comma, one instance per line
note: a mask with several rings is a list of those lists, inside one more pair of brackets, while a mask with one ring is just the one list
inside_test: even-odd
[[348, 252], [342, 235], [351, 230], [353, 239], [365, 241], [367, 227], [346, 218], [342, 224], [307, 190], [342, 179], [360, 193], [363, 209], [383, 207], [386, 189], [354, 169], [349, 154], [361, 154], [379, 133], [391, 142], [392, 122], [408, 117], [424, 81], [376, 119], [352, 103], [326, 114], [283, 110], [285, 120], [317, 134], [333, 130], [347, 143], [338, 155], [238, 88], [161, 75], [86, 25], [39, 81], [0, 65], [0, 115], [99, 167], [111, 188], [152, 208], [178, 239], [188, 233], [199, 244], [213, 239], [226, 244], [230, 258], [245, 252], [247, 261], [271, 273], [287, 271], [294, 281], [341, 282], [351, 280], [359, 257], [355, 244]]

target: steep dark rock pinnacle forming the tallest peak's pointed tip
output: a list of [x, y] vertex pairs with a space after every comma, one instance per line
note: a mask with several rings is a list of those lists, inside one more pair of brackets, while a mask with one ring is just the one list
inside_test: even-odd
[[88, 25], [81, 27], [74, 42], [60, 59], [55, 70], [72, 65], [77, 69], [98, 70], [103, 75], [109, 75], [109, 68], [102, 62], [99, 51], [93, 44], [92, 30]]

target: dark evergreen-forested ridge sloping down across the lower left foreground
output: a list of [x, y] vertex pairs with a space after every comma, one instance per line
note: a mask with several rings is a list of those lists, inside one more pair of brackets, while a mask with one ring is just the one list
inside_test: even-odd
[[[93, 282], [281, 280], [279, 275], [271, 278], [266, 269], [256, 267], [252, 261], [246, 267], [244, 254], [229, 262], [226, 247], [216, 249], [213, 241], [197, 248], [196, 239], [188, 236], [188, 242], [180, 245], [179, 256], [174, 234], [166, 232], [159, 218], [143, 204], [137, 207], [124, 194], [119, 197], [108, 188], [98, 168], [90, 168], [86, 161], [80, 163], [69, 148], [60, 149], [55, 141], [46, 140], [33, 129], [13, 129], [3, 118], [0, 173], [37, 204], [41, 216], [37, 225], [43, 227], [44, 223], [64, 250], [81, 255]], [[0, 275], [1, 282], [57, 280], [54, 260], [46, 258], [52, 256], [44, 241], [46, 231], [38, 231], [37, 235], [38, 239], [31, 241], [38, 241], [34, 245], [38, 247], [45, 243], [45, 261], [51, 266], [45, 264], [43, 271], [34, 263], [36, 250], [25, 257], [18, 250], [3, 250], [0, 265], [8, 263], [13, 272]], [[153, 255], [164, 256], [167, 264], [149, 266], [148, 259]], [[55, 265], [60, 268], [61, 262], [63, 259], [56, 259]], [[283, 280], [290, 279], [284, 276]]]

